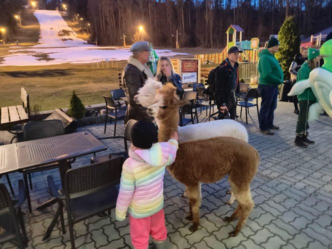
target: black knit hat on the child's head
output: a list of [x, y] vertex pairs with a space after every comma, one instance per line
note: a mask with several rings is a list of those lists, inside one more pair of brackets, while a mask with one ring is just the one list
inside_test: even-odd
[[130, 130], [131, 143], [138, 148], [150, 148], [158, 136], [157, 127], [148, 121], [138, 120]]

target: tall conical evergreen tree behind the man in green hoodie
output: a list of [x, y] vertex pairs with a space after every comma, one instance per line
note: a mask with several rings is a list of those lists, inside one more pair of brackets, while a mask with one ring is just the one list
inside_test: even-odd
[[300, 38], [298, 34], [297, 24], [294, 16], [288, 16], [278, 33], [278, 40], [280, 42], [279, 51], [275, 57], [279, 61], [285, 79], [289, 79], [289, 66], [294, 58], [294, 55], [299, 51]]

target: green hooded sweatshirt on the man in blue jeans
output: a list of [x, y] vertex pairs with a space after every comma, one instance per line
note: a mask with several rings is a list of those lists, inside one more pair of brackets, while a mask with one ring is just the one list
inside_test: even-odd
[[259, 84], [279, 85], [283, 82], [283, 72], [279, 62], [268, 49], [258, 54]]

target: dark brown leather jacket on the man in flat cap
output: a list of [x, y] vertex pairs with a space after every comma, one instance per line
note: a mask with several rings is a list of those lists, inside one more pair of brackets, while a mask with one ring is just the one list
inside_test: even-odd
[[122, 72], [124, 92], [129, 98], [129, 104], [126, 110], [126, 116], [124, 122], [129, 119], [143, 119], [146, 121], [152, 121], [153, 117], [147, 114], [146, 108], [140, 104], [137, 104], [133, 97], [137, 94], [140, 87], [143, 86], [147, 79], [144, 72], [140, 71], [133, 64], [128, 63]]

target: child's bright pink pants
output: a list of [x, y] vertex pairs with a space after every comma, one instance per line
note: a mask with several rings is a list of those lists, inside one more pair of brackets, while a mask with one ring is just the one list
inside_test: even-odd
[[145, 218], [133, 218], [129, 214], [129, 229], [135, 249], [146, 249], [150, 234], [154, 240], [165, 240], [167, 229], [163, 209]]

